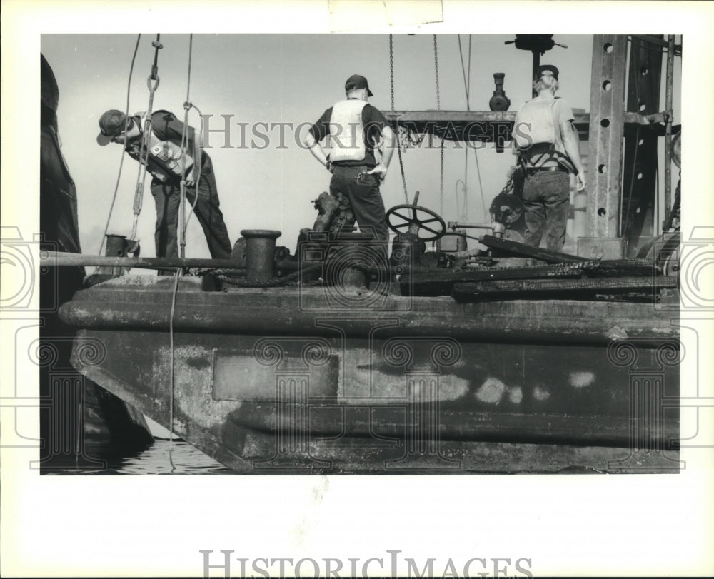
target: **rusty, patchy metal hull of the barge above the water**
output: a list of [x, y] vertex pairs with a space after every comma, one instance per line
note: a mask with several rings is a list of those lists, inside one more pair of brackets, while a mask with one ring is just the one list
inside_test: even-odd
[[77, 293], [74, 364], [238, 472], [678, 471], [676, 311], [186, 278], [172, 348], [173, 283]]

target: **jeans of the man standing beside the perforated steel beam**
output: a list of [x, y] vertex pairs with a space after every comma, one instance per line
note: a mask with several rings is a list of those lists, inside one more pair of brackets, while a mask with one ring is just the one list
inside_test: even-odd
[[540, 171], [526, 176], [523, 183], [523, 210], [526, 233], [523, 241], [540, 246], [545, 232], [546, 246], [563, 251], [565, 224], [570, 207], [570, 176], [561, 171]]

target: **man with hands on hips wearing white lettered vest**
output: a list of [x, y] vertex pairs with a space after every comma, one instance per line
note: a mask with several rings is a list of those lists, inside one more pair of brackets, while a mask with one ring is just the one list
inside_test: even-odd
[[345, 94], [345, 100], [327, 109], [310, 127], [303, 144], [332, 173], [330, 193], [348, 201], [354, 219], [346, 225], [356, 221], [360, 231], [386, 242], [389, 233], [379, 185], [387, 174], [394, 134], [384, 115], [368, 104], [372, 92], [364, 76], [350, 76]]

